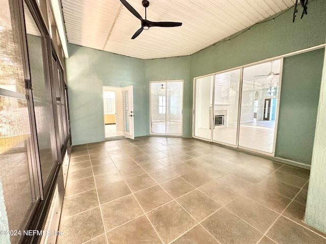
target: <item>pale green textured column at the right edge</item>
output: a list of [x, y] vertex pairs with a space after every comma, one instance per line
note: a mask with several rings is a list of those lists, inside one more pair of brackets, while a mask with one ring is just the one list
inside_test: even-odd
[[321, 80], [305, 222], [326, 233], [326, 54]]

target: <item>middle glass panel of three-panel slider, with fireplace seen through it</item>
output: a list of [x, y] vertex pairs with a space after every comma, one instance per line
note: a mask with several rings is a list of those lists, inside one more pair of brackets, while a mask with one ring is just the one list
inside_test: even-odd
[[236, 145], [240, 69], [215, 75], [213, 141]]

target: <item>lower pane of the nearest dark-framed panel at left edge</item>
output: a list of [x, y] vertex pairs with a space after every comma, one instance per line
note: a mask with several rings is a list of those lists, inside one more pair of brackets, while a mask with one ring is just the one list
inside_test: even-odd
[[[0, 178], [9, 229], [20, 230], [34, 205], [27, 102], [0, 96]], [[13, 181], [14, 175], [14, 181]], [[11, 236], [17, 243], [19, 236]]]

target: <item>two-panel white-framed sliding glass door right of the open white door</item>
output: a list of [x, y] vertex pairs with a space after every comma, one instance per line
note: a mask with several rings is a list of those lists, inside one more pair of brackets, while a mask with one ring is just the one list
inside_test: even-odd
[[151, 134], [182, 135], [183, 81], [150, 82]]

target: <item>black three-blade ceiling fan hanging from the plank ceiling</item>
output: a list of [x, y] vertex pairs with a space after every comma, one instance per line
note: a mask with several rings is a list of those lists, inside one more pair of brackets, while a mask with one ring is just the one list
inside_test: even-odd
[[120, 2], [137, 18], [139, 18], [142, 21], [142, 27], [133, 34], [131, 39], [135, 39], [136, 37], [139, 36], [139, 34], [142, 33], [143, 29], [149, 29], [149, 27], [157, 26], [157, 27], [175, 27], [175, 26], [181, 26], [182, 23], [180, 22], [152, 22], [147, 20], [146, 16], [146, 9], [149, 6], [149, 2], [147, 0], [142, 1], [142, 5], [145, 7], [145, 19], [142, 18], [142, 16], [135, 11], [134, 8], [126, 0], [120, 0]]

